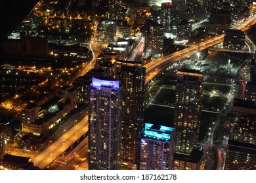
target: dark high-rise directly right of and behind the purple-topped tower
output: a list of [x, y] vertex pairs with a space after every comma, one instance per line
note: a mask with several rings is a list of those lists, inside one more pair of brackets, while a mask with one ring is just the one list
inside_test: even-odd
[[122, 86], [121, 160], [139, 168], [139, 137], [142, 131], [145, 90], [144, 67], [130, 61], [117, 61], [117, 73]]

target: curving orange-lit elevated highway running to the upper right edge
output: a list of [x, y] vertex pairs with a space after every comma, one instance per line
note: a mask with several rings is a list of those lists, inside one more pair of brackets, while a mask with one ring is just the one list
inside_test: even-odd
[[[241, 31], [247, 31], [255, 23], [256, 23], [256, 15], [253, 15], [247, 20], [245, 20], [245, 22], [243, 22], [242, 24], [238, 24], [236, 26], [236, 29], [240, 29]], [[207, 41], [202, 41], [188, 48], [179, 50], [178, 52], [175, 52], [168, 56], [164, 56], [163, 58], [155, 59], [154, 61], [147, 63], [146, 65], [144, 65], [144, 67], [146, 67], [146, 83], [152, 80], [154, 76], [158, 75], [158, 73], [160, 73], [163, 69], [165, 69], [169, 65], [183, 58], [186, 58], [187, 56], [196, 54], [198, 50], [204, 50], [206, 48], [214, 46], [215, 44], [219, 44], [223, 42], [223, 39], [224, 39], [224, 35], [219, 35], [217, 37], [208, 39]]]

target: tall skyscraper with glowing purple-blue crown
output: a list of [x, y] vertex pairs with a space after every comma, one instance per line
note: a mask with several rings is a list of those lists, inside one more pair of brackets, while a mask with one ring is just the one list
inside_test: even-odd
[[120, 169], [119, 81], [93, 77], [89, 110], [89, 169]]

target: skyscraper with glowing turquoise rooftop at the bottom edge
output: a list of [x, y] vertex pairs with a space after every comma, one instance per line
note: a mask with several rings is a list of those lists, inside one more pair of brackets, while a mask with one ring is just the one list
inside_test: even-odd
[[173, 168], [174, 127], [146, 123], [140, 138], [140, 170]]

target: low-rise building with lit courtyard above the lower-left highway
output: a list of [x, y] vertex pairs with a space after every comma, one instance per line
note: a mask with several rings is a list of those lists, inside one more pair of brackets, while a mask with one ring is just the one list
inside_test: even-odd
[[52, 99], [42, 105], [30, 105], [20, 112], [18, 119], [22, 121], [22, 132], [41, 136], [76, 108], [77, 94], [71, 86], [64, 86]]

